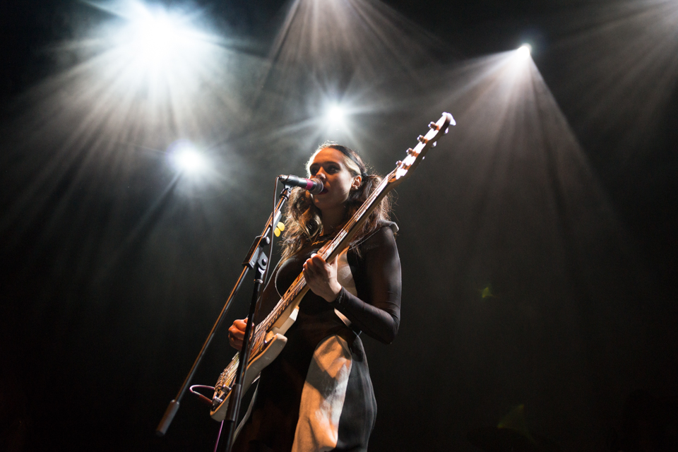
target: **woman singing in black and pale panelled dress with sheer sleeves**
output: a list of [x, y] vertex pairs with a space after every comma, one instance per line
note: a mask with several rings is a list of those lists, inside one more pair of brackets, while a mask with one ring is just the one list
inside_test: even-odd
[[[388, 197], [369, 215], [347, 251], [332, 262], [316, 252], [335, 237], [381, 181], [354, 150], [326, 143], [307, 163], [323, 182], [311, 195], [294, 189], [286, 208], [283, 256], [263, 292], [261, 321], [304, 273], [310, 289], [287, 345], [258, 383], [239, 452], [366, 451], [376, 400], [359, 334], [391, 343], [400, 323], [400, 258]], [[245, 320], [229, 328], [240, 350]]]

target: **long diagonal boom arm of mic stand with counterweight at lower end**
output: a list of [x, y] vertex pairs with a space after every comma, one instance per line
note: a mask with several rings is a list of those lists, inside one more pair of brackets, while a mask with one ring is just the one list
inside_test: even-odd
[[242, 285], [242, 282], [245, 279], [248, 270], [254, 269], [256, 266], [257, 258], [256, 256], [258, 256], [257, 250], [263, 248], [263, 246], [268, 245], [269, 242], [268, 232], [270, 231], [269, 228], [274, 227], [273, 225], [278, 224], [280, 216], [283, 215], [283, 204], [285, 203], [285, 201], [287, 201], [287, 198], [289, 197], [290, 189], [286, 186], [283, 192], [280, 194], [278, 206], [275, 206], [275, 210], [273, 211], [273, 213], [270, 214], [270, 217], [268, 217], [268, 222], [266, 223], [266, 227], [263, 228], [263, 232], [261, 233], [261, 235], [256, 237], [256, 239], [254, 239], [254, 243], [252, 244], [251, 248], [249, 249], [249, 253], [247, 254], [246, 258], [243, 261], [244, 268], [242, 269], [242, 272], [240, 273], [238, 280], [236, 281], [233, 289], [231, 290], [230, 295], [226, 299], [224, 307], [221, 309], [221, 312], [219, 313], [217, 320], [212, 326], [212, 330], [208, 334], [205, 343], [203, 343], [203, 347], [198, 353], [198, 356], [196, 357], [196, 360], [194, 361], [193, 366], [189, 371], [189, 374], [186, 375], [184, 384], [182, 384], [182, 387], [179, 388], [177, 396], [174, 399], [172, 399], [172, 401], [169, 402], [169, 405], [167, 405], [167, 410], [165, 410], [165, 415], [162, 416], [160, 424], [157, 424], [157, 427], [155, 428], [155, 434], [157, 434], [157, 436], [165, 436], [165, 433], [167, 433], [167, 429], [169, 428], [169, 424], [172, 424], [174, 415], [176, 415], [177, 411], [179, 410], [179, 403], [184, 397], [186, 391], [188, 390], [189, 385], [191, 384], [191, 380], [193, 379], [196, 370], [198, 370], [198, 365], [200, 365], [200, 362], [203, 359], [203, 355], [205, 355], [205, 352], [207, 351], [207, 348], [210, 346], [210, 343], [212, 342], [215, 334], [217, 333], [217, 330], [221, 326], [221, 323], [224, 320], [226, 313], [230, 309], [231, 303], [235, 296], [237, 295], [238, 290], [240, 289], [240, 285]]

